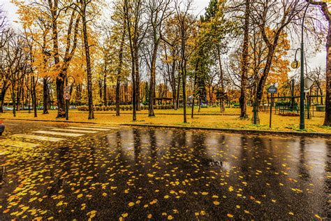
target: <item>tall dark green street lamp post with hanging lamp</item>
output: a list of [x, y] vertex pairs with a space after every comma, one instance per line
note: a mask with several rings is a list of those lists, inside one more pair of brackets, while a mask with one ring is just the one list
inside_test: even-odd
[[304, 17], [306, 17], [307, 9], [310, 1], [308, 1], [307, 6], [304, 10], [304, 16], [302, 17], [302, 26], [301, 26], [301, 47], [297, 48], [300, 50], [300, 63], [297, 62], [297, 50], [295, 51], [295, 60], [291, 64], [294, 69], [297, 69], [300, 66], [300, 129], [304, 129]]

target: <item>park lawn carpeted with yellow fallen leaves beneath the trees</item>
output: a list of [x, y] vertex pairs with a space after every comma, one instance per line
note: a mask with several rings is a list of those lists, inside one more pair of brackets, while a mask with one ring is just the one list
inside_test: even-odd
[[[191, 108], [188, 109], [187, 123], [183, 123], [182, 109], [179, 110], [155, 110], [156, 117], [148, 117], [147, 110], [138, 111], [137, 121], [132, 121], [131, 111], [122, 111], [122, 115], [115, 116], [115, 112], [95, 112], [96, 119], [87, 120], [87, 112], [80, 112], [78, 110], [70, 110], [69, 121], [74, 122], [95, 122], [98, 124], [157, 124], [157, 125], [175, 125], [187, 127], [215, 127], [215, 128], [232, 128], [232, 129], [261, 129], [270, 130], [269, 128], [269, 113], [260, 112], [260, 124], [254, 125], [251, 123], [251, 108], [248, 108], [248, 120], [240, 120], [238, 108], [227, 108], [226, 114], [237, 115], [195, 115], [191, 118]], [[177, 113], [178, 115], [162, 115], [167, 113]], [[195, 113], [198, 110], [195, 109]], [[215, 114], [219, 113], [219, 108], [203, 108], [202, 114]], [[31, 119], [31, 120], [64, 120], [56, 119], [57, 110], [50, 110], [50, 114], [43, 115], [42, 110], [38, 110], [38, 117], [34, 117], [34, 113], [27, 111], [17, 112], [17, 116], [13, 117], [13, 113], [7, 112], [0, 114], [0, 118], [5, 119]], [[331, 133], [331, 127], [322, 127], [323, 113], [314, 113], [311, 120], [305, 120], [306, 131]], [[285, 117], [281, 115], [272, 115], [272, 129], [274, 131], [299, 131], [299, 117]]]

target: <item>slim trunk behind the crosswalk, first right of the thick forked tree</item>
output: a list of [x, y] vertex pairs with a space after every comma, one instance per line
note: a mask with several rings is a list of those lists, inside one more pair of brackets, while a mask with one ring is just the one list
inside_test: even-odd
[[87, 36], [87, 20], [86, 20], [86, 2], [82, 1], [82, 27], [84, 36], [84, 49], [87, 67], [87, 97], [89, 100], [89, 120], [94, 119], [93, 110], [93, 95], [92, 95], [92, 73], [91, 73], [91, 59], [89, 57], [89, 39]]

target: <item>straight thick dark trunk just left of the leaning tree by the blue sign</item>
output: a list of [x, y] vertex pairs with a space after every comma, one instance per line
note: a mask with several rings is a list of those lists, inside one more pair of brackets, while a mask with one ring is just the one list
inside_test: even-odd
[[245, 3], [245, 24], [244, 24], [244, 43], [242, 45], [242, 78], [240, 91], [240, 118], [246, 119], [247, 116], [247, 71], [249, 66], [248, 47], [249, 47], [249, 0]]

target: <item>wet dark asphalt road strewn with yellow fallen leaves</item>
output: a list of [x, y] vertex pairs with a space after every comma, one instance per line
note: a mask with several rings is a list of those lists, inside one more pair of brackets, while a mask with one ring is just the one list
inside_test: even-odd
[[[6, 123], [7, 137], [87, 127]], [[331, 219], [328, 138], [120, 127], [15, 140], [40, 145], [0, 138], [0, 220]]]

